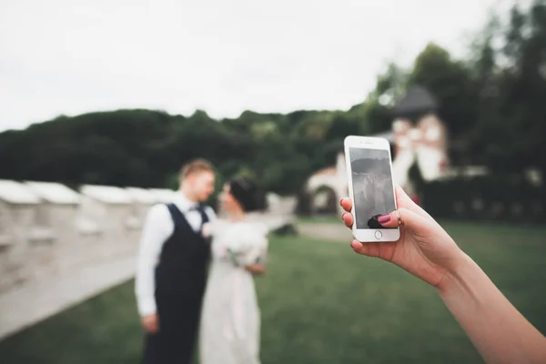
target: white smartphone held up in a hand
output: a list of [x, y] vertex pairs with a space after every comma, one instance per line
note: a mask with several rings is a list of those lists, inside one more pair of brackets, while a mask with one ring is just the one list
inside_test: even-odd
[[377, 220], [397, 208], [389, 141], [347, 136], [344, 147], [349, 197], [353, 201], [353, 236], [361, 242], [397, 241], [399, 228], [382, 227]]

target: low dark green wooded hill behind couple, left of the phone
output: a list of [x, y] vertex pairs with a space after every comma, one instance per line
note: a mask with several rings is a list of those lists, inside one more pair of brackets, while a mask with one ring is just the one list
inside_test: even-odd
[[292, 193], [335, 162], [343, 137], [358, 133], [359, 123], [331, 112], [245, 112], [220, 121], [199, 110], [189, 117], [149, 110], [63, 116], [0, 134], [0, 177], [176, 188], [179, 168], [204, 157], [220, 181], [246, 176], [263, 189]]

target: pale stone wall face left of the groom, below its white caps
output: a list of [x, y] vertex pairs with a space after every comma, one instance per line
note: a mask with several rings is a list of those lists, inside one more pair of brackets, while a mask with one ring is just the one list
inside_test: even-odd
[[0, 199], [0, 295], [42, 278], [135, 256], [151, 205], [108, 204], [85, 196], [77, 204]]

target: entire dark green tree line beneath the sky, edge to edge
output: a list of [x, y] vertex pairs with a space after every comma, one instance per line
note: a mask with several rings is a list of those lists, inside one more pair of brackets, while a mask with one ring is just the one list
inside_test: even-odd
[[189, 117], [118, 110], [6, 131], [0, 177], [176, 187], [179, 167], [204, 157], [222, 178], [249, 175], [262, 189], [298, 193], [311, 173], [335, 163], [345, 136], [389, 130], [393, 102], [413, 85], [439, 100], [454, 164], [546, 173], [546, 2], [515, 5], [506, 24], [499, 19], [491, 17], [469, 59], [427, 45], [412, 69], [389, 64], [366, 99], [347, 111], [245, 111], [215, 120], [202, 110]]

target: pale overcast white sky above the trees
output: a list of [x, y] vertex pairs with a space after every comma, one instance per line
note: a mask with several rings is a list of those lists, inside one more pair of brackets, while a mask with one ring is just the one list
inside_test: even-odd
[[348, 109], [429, 42], [463, 56], [502, 1], [0, 0], [0, 131], [118, 108]]

